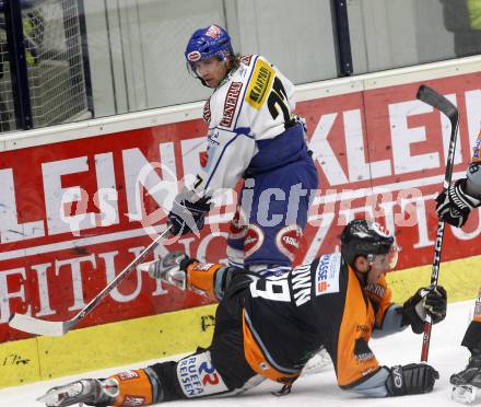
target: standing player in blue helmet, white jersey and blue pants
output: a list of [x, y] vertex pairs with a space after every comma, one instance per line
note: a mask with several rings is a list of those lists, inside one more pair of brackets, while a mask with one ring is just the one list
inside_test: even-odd
[[213, 93], [203, 109], [207, 156], [193, 185], [174, 200], [173, 233], [200, 230], [211, 197], [244, 178], [227, 240], [230, 264], [288, 270], [318, 186], [303, 121], [293, 114], [294, 85], [266, 58], [236, 56], [227, 32], [215, 24], [192, 34], [185, 57]]

